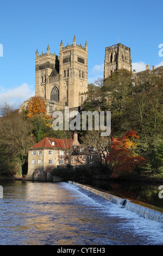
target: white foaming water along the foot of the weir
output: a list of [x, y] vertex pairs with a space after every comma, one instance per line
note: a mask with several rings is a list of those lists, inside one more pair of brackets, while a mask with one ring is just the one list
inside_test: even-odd
[[112, 215], [120, 218], [122, 220], [122, 228], [134, 228], [135, 236], [148, 236], [147, 239], [151, 244], [163, 244], [163, 223], [146, 220], [144, 217], [127, 210], [122, 205], [113, 204], [108, 200], [78, 186], [67, 184], [65, 188], [71, 189], [80, 194], [80, 204], [89, 204], [92, 205], [92, 207], [98, 207], [106, 216], [108, 215], [108, 217], [110, 217], [110, 215]]

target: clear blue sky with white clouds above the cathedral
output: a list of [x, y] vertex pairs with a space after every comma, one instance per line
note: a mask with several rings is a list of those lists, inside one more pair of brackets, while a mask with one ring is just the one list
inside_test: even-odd
[[103, 77], [105, 47], [131, 48], [133, 69], [163, 65], [162, 0], [155, 1], [1, 1], [0, 104], [18, 107], [34, 95], [35, 51], [59, 55], [64, 46], [88, 44], [88, 82]]

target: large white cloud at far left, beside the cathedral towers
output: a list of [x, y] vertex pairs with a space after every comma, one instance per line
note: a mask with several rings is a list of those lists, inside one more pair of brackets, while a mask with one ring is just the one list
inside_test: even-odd
[[9, 103], [12, 107], [18, 108], [29, 97], [34, 96], [35, 92], [33, 87], [23, 83], [21, 86], [6, 90], [0, 86], [0, 102]]

